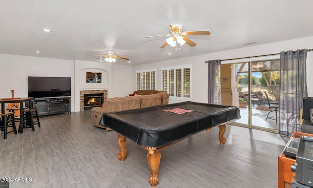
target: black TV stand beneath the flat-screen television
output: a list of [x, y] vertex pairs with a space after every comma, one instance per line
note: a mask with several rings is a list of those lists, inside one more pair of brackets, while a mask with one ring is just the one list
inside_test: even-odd
[[39, 116], [70, 113], [70, 96], [35, 98], [31, 103], [37, 107]]

